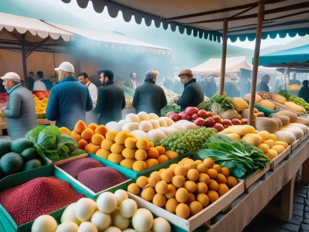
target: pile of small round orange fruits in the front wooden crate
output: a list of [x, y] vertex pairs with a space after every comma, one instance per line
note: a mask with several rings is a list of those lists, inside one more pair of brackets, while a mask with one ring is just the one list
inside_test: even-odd
[[186, 157], [178, 164], [151, 173], [149, 178], [139, 177], [127, 190], [158, 207], [165, 207], [178, 217], [188, 218], [217, 201], [237, 184], [230, 170], [214, 164], [212, 159], [194, 161]]

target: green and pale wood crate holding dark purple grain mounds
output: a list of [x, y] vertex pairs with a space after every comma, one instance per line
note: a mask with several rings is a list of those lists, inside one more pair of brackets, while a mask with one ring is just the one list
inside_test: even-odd
[[[98, 193], [95, 193], [94, 191], [92, 191], [91, 189], [89, 189], [88, 187], [86, 187], [85, 185], [80, 183], [73, 176], [71, 176], [70, 174], [68, 174], [67, 172], [65, 172], [64, 170], [62, 170], [61, 168], [59, 168], [57, 166], [57, 165], [61, 165], [61, 164], [64, 164], [64, 163], [67, 163], [67, 162], [70, 162], [70, 161], [74, 161], [74, 160], [81, 159], [81, 158], [86, 158], [86, 157], [93, 158], [93, 159], [95, 159], [95, 160], [100, 162], [100, 160], [98, 159], [99, 157], [94, 156], [94, 155], [91, 156], [90, 154], [89, 155], [88, 154], [80, 155], [80, 156], [72, 157], [72, 158], [69, 158], [69, 159], [66, 159], [66, 160], [61, 160], [61, 161], [54, 162], [53, 165], [54, 165], [54, 169], [55, 169], [54, 170], [55, 177], [57, 177], [58, 179], [61, 179], [61, 180], [69, 182], [71, 187], [75, 191], [77, 191], [77, 189], [83, 189], [83, 192], [84, 192], [83, 194], [87, 195], [87, 197], [89, 197], [90, 199], [97, 199], [99, 197], [99, 195], [102, 192], [105, 192], [105, 191], [114, 193], [118, 189], [126, 190], [128, 185], [130, 183], [133, 183], [133, 179], [127, 173], [124, 173], [124, 172], [121, 172], [120, 170], [117, 170], [121, 174], [123, 174], [126, 178], [128, 178], [128, 180], [126, 180], [126, 181], [124, 181], [124, 182], [122, 182], [122, 183], [120, 183], [118, 185], [115, 185], [113, 187], [110, 187], [108, 189], [105, 189], [103, 191], [100, 191]], [[102, 163], [102, 164], [104, 165], [104, 163]], [[107, 167], [107, 166], [104, 165], [104, 167]]]

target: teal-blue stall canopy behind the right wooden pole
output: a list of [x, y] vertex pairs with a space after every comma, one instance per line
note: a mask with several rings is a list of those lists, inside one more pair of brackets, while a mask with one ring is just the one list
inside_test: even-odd
[[[253, 59], [252, 59], [253, 63]], [[272, 67], [308, 67], [309, 44], [296, 48], [286, 49], [270, 54], [261, 55], [259, 66]]]

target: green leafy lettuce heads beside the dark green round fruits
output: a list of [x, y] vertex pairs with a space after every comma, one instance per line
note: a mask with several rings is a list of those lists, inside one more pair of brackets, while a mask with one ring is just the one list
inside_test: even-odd
[[37, 126], [25, 137], [33, 142], [41, 157], [45, 156], [53, 162], [85, 154], [77, 149], [77, 142], [70, 135], [61, 134], [56, 126]]

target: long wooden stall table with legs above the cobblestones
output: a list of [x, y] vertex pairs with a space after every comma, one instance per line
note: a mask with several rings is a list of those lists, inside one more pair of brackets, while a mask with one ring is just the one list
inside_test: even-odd
[[[258, 213], [270, 214], [282, 221], [289, 221], [293, 212], [294, 183], [302, 168], [301, 182], [309, 184], [309, 137], [286, 159], [267, 171], [259, 180], [231, 203], [228, 213], [219, 213], [211, 219], [207, 232], [241, 232]], [[281, 191], [281, 205], [269, 204]], [[233, 228], [233, 229], [231, 229]]]

